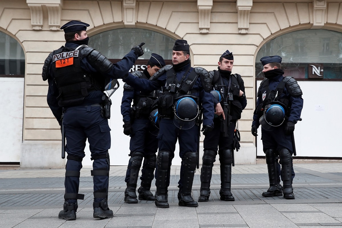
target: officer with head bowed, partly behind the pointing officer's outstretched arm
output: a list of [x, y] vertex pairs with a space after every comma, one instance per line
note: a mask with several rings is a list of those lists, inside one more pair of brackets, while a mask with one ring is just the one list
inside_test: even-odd
[[[160, 68], [165, 66], [164, 59], [155, 53], [151, 54], [143, 72], [135, 71], [132, 74], [139, 78], [149, 79]], [[160, 91], [160, 90], [159, 90]], [[137, 203], [136, 183], [141, 165], [141, 186], [138, 189], [140, 200], [154, 201], [154, 195], [150, 192], [154, 170], [157, 161], [158, 139], [157, 128], [149, 120], [156, 103], [158, 90], [146, 93], [125, 84], [121, 102], [121, 114], [123, 117], [123, 133], [131, 137], [130, 154], [125, 182], [124, 201], [126, 203]], [[132, 104], [133, 101], [133, 104]], [[144, 162], [142, 162], [144, 160]]]

